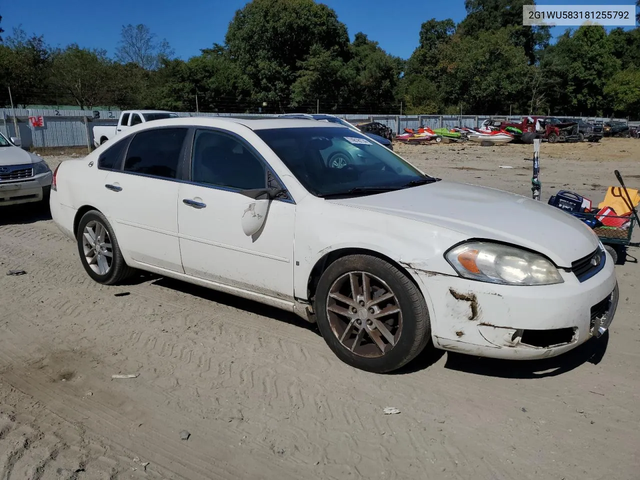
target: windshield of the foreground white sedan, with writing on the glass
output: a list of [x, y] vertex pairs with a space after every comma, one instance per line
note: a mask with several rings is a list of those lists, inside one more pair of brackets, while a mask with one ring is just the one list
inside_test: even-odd
[[388, 148], [343, 127], [264, 129], [255, 133], [316, 196], [369, 195], [437, 180]]

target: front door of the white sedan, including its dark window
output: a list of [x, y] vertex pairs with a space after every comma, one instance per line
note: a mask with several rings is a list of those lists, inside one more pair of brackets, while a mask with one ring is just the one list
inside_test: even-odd
[[268, 178], [276, 181], [268, 164], [243, 140], [222, 131], [196, 131], [191, 183], [182, 183], [179, 189], [185, 273], [292, 299], [294, 202], [271, 200], [262, 229], [253, 236], [246, 236], [241, 224], [252, 199], [239, 192], [266, 188]]

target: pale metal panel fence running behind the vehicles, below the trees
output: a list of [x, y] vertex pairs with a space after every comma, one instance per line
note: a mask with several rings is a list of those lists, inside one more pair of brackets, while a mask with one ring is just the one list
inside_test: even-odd
[[[0, 109], [0, 132], [5, 136], [19, 136], [23, 148], [93, 147], [93, 127], [116, 125], [120, 117], [117, 110], [55, 110], [55, 109]], [[179, 116], [234, 116], [239, 113], [177, 112]], [[251, 114], [252, 116], [277, 116]], [[419, 127], [479, 127], [492, 115], [337, 115], [349, 122], [375, 121], [385, 124], [396, 133]], [[42, 117], [42, 118], [41, 118]], [[522, 115], [500, 116], [509, 121], [520, 121]], [[627, 122], [626, 118], [573, 117], [584, 120]], [[40, 125], [42, 121], [42, 125]], [[628, 122], [629, 125], [639, 122]], [[17, 125], [19, 134], [16, 134]]]

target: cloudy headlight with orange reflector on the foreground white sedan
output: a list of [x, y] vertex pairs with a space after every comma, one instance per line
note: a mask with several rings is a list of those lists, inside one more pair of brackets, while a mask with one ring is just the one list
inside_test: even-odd
[[549, 260], [513, 246], [470, 242], [446, 255], [460, 276], [504, 285], [552, 285], [564, 280]]

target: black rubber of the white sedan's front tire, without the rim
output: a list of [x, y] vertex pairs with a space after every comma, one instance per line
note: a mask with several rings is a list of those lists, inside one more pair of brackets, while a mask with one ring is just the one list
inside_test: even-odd
[[[356, 275], [362, 275], [364, 272], [367, 275], [377, 277], [377, 280], [381, 280], [388, 285], [390, 291], [395, 295], [394, 300], [397, 300], [400, 313], [397, 314], [396, 319], [401, 318], [401, 328], [396, 330], [395, 335], [398, 336], [394, 344], [389, 343], [385, 346], [390, 346], [390, 348], [377, 348], [374, 345], [372, 337], [368, 337], [369, 344], [365, 345], [371, 347], [379, 356], [372, 356], [373, 354], [365, 356], [354, 353], [344, 346], [338, 338], [339, 333], [343, 333], [342, 336], [344, 337], [346, 328], [342, 327], [342, 332], [337, 332], [333, 329], [332, 324], [336, 324], [335, 318], [339, 317], [340, 319], [340, 316], [332, 313], [334, 319], [332, 323], [328, 312], [330, 289], [334, 284], [339, 282], [340, 278], [344, 278], [345, 275], [351, 272], [356, 273]], [[375, 280], [376, 278], [371, 281]], [[364, 284], [364, 282], [362, 282], [362, 284]], [[358, 308], [362, 310], [364, 307]], [[395, 266], [371, 255], [348, 255], [333, 262], [329, 268], [324, 271], [318, 283], [314, 310], [316, 311], [317, 325], [320, 333], [333, 353], [335, 353], [342, 362], [369, 372], [384, 373], [399, 369], [413, 360], [413, 358], [424, 349], [428, 340], [431, 338], [429, 313], [422, 293], [413, 282]], [[344, 310], [346, 310], [346, 308]], [[364, 308], [364, 310], [367, 310], [367, 308]], [[359, 313], [360, 312], [358, 312], [358, 314]], [[394, 317], [387, 318], [390, 319], [388, 321], [394, 322]], [[346, 317], [342, 316], [341, 319], [344, 322]], [[387, 326], [387, 324], [385, 324], [385, 326]], [[354, 327], [351, 328], [353, 329]], [[364, 330], [364, 323], [362, 327], [358, 328]], [[352, 330], [350, 330], [350, 332], [351, 331]], [[357, 329], [353, 329], [353, 332], [357, 331]], [[387, 333], [389, 332], [388, 330]], [[378, 337], [381, 338], [380, 330], [378, 330]]]

